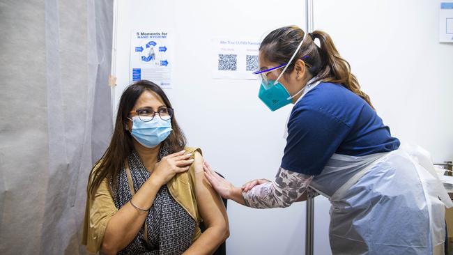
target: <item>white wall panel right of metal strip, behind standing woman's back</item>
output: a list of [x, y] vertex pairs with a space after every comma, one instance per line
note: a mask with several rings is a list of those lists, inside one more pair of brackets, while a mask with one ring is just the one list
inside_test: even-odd
[[392, 134], [453, 160], [453, 43], [437, 0], [316, 0], [314, 27], [335, 40]]

